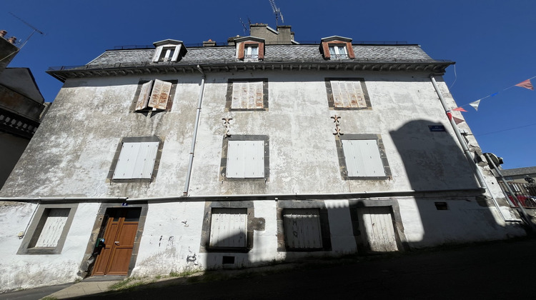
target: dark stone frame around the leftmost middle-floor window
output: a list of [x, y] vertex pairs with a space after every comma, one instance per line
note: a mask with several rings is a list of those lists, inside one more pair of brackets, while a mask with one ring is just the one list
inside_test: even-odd
[[[123, 149], [124, 143], [142, 143], [142, 142], [158, 142], [158, 149], [157, 149], [157, 156], [154, 160], [154, 166], [153, 171], [151, 174], [151, 178], [138, 178], [138, 179], [114, 179], [114, 173], [117, 167], [117, 164], [119, 162], [119, 156], [121, 155], [121, 149]], [[108, 172], [108, 176], [106, 177], [106, 181], [109, 182], [152, 182], [154, 179], [156, 179], [158, 170], [159, 170], [159, 164], [160, 159], [162, 158], [162, 149], [164, 148], [164, 141], [160, 139], [158, 136], [137, 136], [137, 137], [124, 137], [119, 141], [119, 144], [117, 145], [114, 159], [111, 161], [111, 166]]]

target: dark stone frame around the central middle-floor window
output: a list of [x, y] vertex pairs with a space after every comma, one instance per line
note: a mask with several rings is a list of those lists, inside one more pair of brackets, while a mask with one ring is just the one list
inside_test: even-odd
[[[229, 141], [264, 141], [264, 177], [227, 177], [227, 160]], [[268, 181], [269, 179], [269, 136], [265, 135], [232, 135], [223, 139], [222, 159], [219, 168], [220, 181]]]

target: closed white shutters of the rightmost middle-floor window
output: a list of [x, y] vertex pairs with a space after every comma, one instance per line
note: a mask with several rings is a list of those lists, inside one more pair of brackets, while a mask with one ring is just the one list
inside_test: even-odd
[[342, 140], [349, 177], [386, 176], [375, 139]]

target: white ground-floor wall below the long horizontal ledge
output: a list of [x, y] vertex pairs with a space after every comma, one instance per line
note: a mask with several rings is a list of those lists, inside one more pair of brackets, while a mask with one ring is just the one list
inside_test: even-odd
[[[120, 231], [109, 237], [109, 228], [132, 224], [130, 244]], [[1, 291], [75, 281], [99, 268], [99, 274], [113, 272], [102, 257], [104, 265], [97, 266], [111, 246], [126, 275], [151, 276], [525, 234], [519, 223], [505, 222], [494, 206], [475, 196], [5, 202], [0, 228]], [[104, 236], [106, 247], [99, 246]]]

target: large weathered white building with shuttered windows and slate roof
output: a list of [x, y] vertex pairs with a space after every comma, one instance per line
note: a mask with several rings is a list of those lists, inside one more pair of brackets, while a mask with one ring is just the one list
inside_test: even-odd
[[51, 69], [64, 86], [0, 191], [0, 286], [522, 236], [445, 115], [451, 64], [254, 24]]

